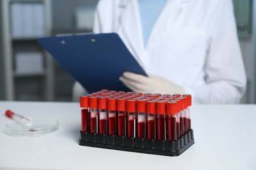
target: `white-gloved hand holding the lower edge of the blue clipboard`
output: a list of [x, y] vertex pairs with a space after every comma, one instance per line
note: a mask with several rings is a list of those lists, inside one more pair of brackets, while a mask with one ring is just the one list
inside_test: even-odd
[[184, 93], [184, 89], [165, 78], [156, 75], [138, 75], [131, 72], [125, 72], [119, 77], [119, 80], [134, 92], [143, 93]]

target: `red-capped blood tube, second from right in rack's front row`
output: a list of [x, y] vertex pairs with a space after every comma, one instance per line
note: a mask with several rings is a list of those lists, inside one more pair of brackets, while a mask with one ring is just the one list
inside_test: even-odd
[[158, 140], [165, 141], [166, 140], [166, 110], [165, 110], [166, 101], [157, 101], [156, 102], [156, 113], [158, 115]]

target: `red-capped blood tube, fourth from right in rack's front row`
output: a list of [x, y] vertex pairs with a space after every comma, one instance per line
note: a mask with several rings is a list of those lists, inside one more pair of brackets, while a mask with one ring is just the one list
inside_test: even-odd
[[137, 137], [139, 139], [146, 138], [146, 100], [140, 99], [136, 103], [136, 110], [138, 114], [137, 123]]

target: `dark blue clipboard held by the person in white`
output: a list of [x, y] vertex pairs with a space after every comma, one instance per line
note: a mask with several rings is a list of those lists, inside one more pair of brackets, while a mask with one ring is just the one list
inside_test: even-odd
[[102, 89], [130, 91], [119, 80], [125, 71], [146, 76], [116, 33], [45, 37], [37, 41], [90, 93]]

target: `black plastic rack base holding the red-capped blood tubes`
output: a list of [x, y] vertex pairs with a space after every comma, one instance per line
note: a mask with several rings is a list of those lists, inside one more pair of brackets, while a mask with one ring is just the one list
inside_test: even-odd
[[194, 144], [194, 132], [191, 129], [188, 133], [177, 139], [177, 141], [171, 142], [118, 137], [116, 135], [99, 135], [80, 131], [79, 144], [81, 146], [140, 152], [144, 154], [179, 156]]

